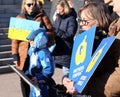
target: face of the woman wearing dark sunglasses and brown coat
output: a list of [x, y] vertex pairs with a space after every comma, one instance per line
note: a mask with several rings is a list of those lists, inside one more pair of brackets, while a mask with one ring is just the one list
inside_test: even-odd
[[26, 9], [28, 14], [31, 14], [33, 12], [34, 6], [35, 6], [35, 1], [34, 0], [26, 0], [25, 9]]

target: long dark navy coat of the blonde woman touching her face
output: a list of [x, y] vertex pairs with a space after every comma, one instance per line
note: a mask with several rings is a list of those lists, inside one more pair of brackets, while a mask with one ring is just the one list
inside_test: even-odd
[[72, 9], [69, 15], [61, 16], [58, 14], [56, 21], [53, 23], [56, 29], [56, 47], [53, 51], [56, 64], [66, 67], [70, 65], [73, 38], [78, 27], [76, 17], [76, 12]]

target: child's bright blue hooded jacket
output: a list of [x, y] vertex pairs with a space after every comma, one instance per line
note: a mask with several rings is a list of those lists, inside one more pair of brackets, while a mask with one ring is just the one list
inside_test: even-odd
[[[40, 30], [41, 31], [41, 30]], [[34, 31], [35, 32], [35, 31]], [[30, 46], [28, 54], [30, 56], [30, 67], [28, 73], [37, 77], [39, 81], [49, 81], [54, 73], [54, 62], [49, 49], [47, 48], [48, 38], [45, 32], [38, 31], [37, 35], [29, 34], [28, 39], [34, 39], [35, 46]], [[35, 38], [31, 37], [36, 35]]]

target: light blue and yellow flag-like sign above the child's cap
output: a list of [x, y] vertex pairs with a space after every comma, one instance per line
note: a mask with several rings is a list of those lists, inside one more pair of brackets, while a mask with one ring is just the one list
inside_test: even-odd
[[16, 17], [10, 18], [8, 38], [27, 41], [26, 37], [31, 31], [39, 29], [40, 22]]

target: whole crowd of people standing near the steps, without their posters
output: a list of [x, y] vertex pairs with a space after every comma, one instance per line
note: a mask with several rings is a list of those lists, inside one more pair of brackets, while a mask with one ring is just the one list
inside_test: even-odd
[[[29, 41], [12, 39], [13, 63], [41, 89], [38, 95], [20, 78], [23, 97], [58, 97], [52, 78], [56, 65], [62, 66], [61, 80], [67, 97], [120, 97], [120, 0], [83, 1], [77, 12], [72, 0], [50, 0], [56, 8], [51, 20], [44, 11], [44, 0], [22, 0], [16, 18], [40, 22], [40, 29], [29, 34]], [[82, 93], [78, 93], [74, 81], [68, 77], [74, 39], [94, 25], [92, 52], [104, 38], [116, 36], [116, 39]]]

